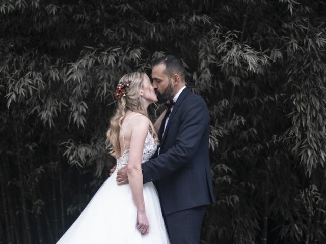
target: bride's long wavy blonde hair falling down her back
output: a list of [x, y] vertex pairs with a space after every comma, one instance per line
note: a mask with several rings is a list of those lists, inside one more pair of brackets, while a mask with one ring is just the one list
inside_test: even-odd
[[[130, 85], [124, 88], [126, 92], [125, 96], [118, 98], [117, 110], [111, 118], [110, 128], [106, 132], [107, 148], [110, 149], [109, 153], [115, 158], [119, 157], [119, 154], [121, 153], [119, 138], [121, 125], [126, 116], [126, 112], [130, 110], [131, 112], [140, 113], [148, 117], [146, 108], [142, 106], [140, 95], [145, 76], [147, 76], [145, 73], [134, 72], [122, 76], [119, 81], [119, 84], [130, 82]], [[149, 131], [157, 143], [157, 133], [151, 121], [149, 121]]]

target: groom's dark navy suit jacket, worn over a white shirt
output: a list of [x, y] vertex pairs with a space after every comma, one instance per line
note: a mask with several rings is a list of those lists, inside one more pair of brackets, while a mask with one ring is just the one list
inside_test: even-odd
[[158, 135], [159, 156], [142, 164], [144, 183], [156, 181], [164, 214], [213, 203], [209, 112], [204, 99], [185, 88], [162, 135], [164, 124], [165, 120]]

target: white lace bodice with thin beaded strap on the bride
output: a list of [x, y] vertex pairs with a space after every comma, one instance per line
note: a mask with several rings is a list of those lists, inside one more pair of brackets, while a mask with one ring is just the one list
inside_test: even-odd
[[[140, 114], [136, 114], [134, 116], [138, 116], [138, 115], [140, 115]], [[134, 117], [134, 116], [132, 116], [132, 117]], [[124, 148], [125, 148], [124, 133], [125, 133], [125, 130], [129, 124], [131, 118], [129, 118], [128, 123], [123, 131]], [[153, 136], [151, 135], [151, 133], [148, 131], [146, 139], [145, 139], [145, 143], [144, 143], [144, 148], [143, 148], [142, 163], [148, 161], [154, 155], [156, 149], [157, 149], [157, 144], [155, 143], [155, 140], [154, 140]], [[128, 164], [128, 159], [129, 159], [129, 149], [127, 149], [127, 150], [125, 149], [122, 156], [117, 159], [116, 171], [119, 170], [120, 168], [122, 168], [123, 166], [126, 166]]]

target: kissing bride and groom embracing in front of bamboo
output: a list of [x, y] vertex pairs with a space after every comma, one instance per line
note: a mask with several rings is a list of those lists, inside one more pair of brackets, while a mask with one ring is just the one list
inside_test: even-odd
[[[145, 73], [124, 75], [107, 131], [117, 159], [82, 214], [57, 244], [199, 243], [214, 202], [209, 166], [209, 112], [185, 83], [181, 59], [155, 60]], [[147, 108], [167, 109], [153, 124]]]

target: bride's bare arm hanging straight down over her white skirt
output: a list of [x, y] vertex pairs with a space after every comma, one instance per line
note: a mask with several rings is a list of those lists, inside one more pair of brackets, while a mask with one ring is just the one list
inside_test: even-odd
[[[145, 116], [137, 116], [132, 119], [131, 139], [128, 160], [128, 180], [131, 188], [133, 201], [137, 207], [137, 228], [142, 234], [147, 234], [149, 229], [145, 211], [143, 196], [142, 157], [145, 139], [148, 133], [149, 119]], [[143, 231], [142, 231], [143, 230]]]

